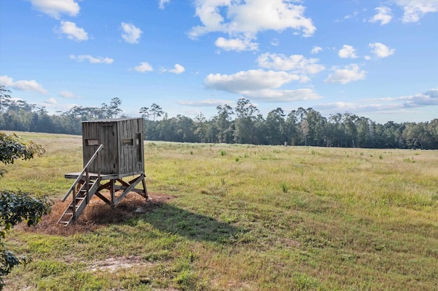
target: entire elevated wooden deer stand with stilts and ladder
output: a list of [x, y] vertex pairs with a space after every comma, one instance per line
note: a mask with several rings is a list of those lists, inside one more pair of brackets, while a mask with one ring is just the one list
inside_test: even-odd
[[[58, 223], [68, 225], [76, 221], [93, 195], [112, 208], [129, 192], [136, 192], [146, 200], [144, 181], [143, 119], [118, 118], [82, 122], [83, 169], [79, 173], [64, 174], [75, 179], [62, 202], [70, 193], [72, 202]], [[129, 177], [128, 180], [123, 178]], [[142, 189], [136, 188], [142, 183]], [[110, 192], [110, 199], [101, 191]]]

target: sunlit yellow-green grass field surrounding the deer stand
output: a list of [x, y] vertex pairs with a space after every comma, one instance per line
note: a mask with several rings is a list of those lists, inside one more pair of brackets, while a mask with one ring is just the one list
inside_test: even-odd
[[[47, 152], [8, 165], [0, 189], [63, 197], [81, 137], [19, 135]], [[92, 231], [10, 232], [33, 260], [6, 290], [438, 286], [437, 151], [144, 145], [151, 197], [174, 198]]]

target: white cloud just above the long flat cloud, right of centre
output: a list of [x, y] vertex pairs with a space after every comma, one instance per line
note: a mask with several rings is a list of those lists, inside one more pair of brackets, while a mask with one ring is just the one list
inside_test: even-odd
[[306, 59], [302, 55], [290, 55], [263, 53], [257, 58], [261, 68], [273, 70], [285, 70], [298, 74], [316, 74], [325, 70], [324, 66], [317, 64], [319, 59]]

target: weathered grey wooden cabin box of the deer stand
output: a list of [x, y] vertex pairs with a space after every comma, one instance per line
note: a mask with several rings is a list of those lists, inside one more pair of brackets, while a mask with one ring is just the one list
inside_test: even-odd
[[[82, 123], [83, 165], [100, 144], [102, 174], [144, 174], [143, 119], [121, 118]], [[97, 161], [90, 171], [97, 172]]]

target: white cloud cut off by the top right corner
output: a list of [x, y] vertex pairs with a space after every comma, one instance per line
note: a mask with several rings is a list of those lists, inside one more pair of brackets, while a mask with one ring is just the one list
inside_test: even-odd
[[395, 3], [404, 10], [404, 23], [415, 23], [426, 13], [438, 12], [438, 1], [435, 0], [395, 0]]

